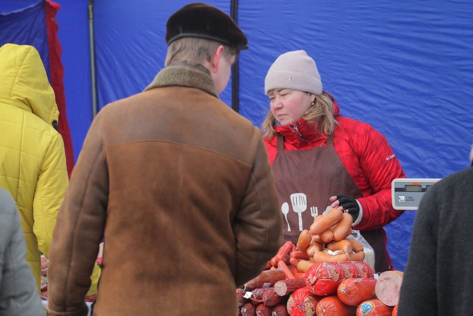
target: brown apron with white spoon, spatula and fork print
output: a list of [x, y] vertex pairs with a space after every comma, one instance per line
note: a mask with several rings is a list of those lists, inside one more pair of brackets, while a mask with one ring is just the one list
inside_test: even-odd
[[[315, 213], [322, 214], [330, 207], [330, 197], [344, 194], [358, 199], [363, 194], [335, 151], [333, 135], [328, 137], [327, 146], [291, 151], [284, 151], [284, 138], [280, 134], [277, 137], [274, 180], [281, 210], [289, 207], [287, 221], [282, 213], [283, 233], [286, 240], [297, 243], [300, 232], [313, 223]], [[361, 231], [361, 235], [374, 250], [376, 272], [389, 270], [382, 229]]]

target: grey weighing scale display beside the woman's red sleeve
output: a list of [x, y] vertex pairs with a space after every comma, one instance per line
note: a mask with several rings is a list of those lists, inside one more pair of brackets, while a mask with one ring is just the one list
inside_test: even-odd
[[439, 180], [414, 178], [392, 180], [392, 207], [395, 210], [417, 210], [425, 192]]

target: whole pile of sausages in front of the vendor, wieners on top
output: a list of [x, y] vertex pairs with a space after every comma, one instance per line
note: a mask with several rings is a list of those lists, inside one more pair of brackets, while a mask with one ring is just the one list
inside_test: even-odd
[[349, 238], [352, 217], [338, 209], [319, 215], [285, 242], [266, 270], [237, 289], [239, 313], [264, 315], [397, 315], [402, 272], [376, 275], [363, 246]]

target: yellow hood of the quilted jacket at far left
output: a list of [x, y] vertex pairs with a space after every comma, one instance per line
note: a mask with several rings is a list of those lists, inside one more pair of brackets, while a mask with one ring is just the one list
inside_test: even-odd
[[33, 46], [0, 47], [0, 103], [32, 112], [48, 124], [57, 122], [59, 110], [54, 90]]

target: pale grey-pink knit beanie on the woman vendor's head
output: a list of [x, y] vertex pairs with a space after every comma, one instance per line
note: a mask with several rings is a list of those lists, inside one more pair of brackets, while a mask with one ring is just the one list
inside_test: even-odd
[[264, 91], [293, 89], [322, 94], [322, 81], [316, 62], [304, 50], [289, 51], [280, 55], [268, 70]]

